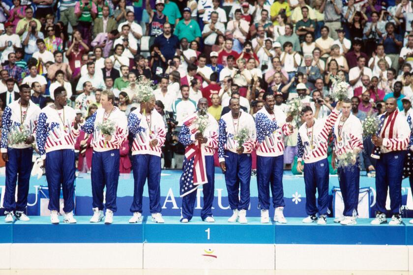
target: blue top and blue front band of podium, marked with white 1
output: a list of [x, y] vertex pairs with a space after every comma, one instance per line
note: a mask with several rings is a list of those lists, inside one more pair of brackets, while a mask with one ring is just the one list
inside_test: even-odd
[[115, 216], [111, 225], [90, 223], [90, 217], [82, 216], [76, 217], [77, 224], [59, 225], [51, 224], [49, 217], [30, 218], [13, 223], [1, 219], [0, 243], [413, 245], [413, 224], [407, 219], [400, 226], [374, 226], [371, 219], [344, 226], [333, 219], [327, 219], [326, 225], [303, 224], [301, 218], [289, 218], [287, 224], [261, 224], [259, 218], [250, 217], [248, 224], [239, 224], [223, 217], [215, 223], [194, 217], [184, 224], [178, 217], [164, 217], [165, 223], [157, 224], [145, 217], [142, 223], [129, 224], [130, 217]]

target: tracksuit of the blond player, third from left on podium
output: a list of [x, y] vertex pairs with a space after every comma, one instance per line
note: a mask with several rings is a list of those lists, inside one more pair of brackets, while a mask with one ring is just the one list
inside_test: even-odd
[[[116, 130], [110, 141], [105, 141], [100, 131], [99, 124], [104, 120], [115, 122]], [[105, 115], [105, 110], [99, 108], [81, 126], [87, 134], [93, 134], [92, 147], [92, 197], [93, 208], [103, 210], [103, 190], [106, 187], [106, 209], [117, 211], [116, 196], [119, 181], [119, 148], [128, 136], [127, 119], [121, 110], [114, 107], [114, 110]]]

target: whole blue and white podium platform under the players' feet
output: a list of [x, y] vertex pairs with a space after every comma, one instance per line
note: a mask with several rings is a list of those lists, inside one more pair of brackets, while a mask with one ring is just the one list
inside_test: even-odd
[[413, 270], [408, 220], [375, 226], [358, 219], [343, 226], [333, 219], [317, 225], [301, 218], [262, 224], [250, 217], [239, 224], [224, 217], [214, 223], [164, 217], [158, 224], [145, 217], [129, 224], [130, 216], [114, 216], [106, 225], [75, 218], [76, 224], [58, 225], [49, 217], [0, 220], [0, 269]]

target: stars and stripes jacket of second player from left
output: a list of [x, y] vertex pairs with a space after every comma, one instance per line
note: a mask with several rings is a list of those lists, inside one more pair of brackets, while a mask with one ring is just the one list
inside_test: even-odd
[[[36, 128], [37, 148], [43, 160], [46, 153], [62, 149], [75, 149], [75, 140], [79, 136], [76, 130], [76, 112], [73, 108], [64, 106], [59, 112], [51, 106], [46, 106], [40, 111]], [[64, 118], [63, 118], [64, 114]]]

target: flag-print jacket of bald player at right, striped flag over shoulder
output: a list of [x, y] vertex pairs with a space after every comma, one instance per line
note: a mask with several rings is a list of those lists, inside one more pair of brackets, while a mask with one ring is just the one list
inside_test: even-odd
[[405, 116], [395, 110], [387, 115], [387, 112], [379, 116], [379, 120], [384, 119], [379, 138], [383, 138], [383, 145], [380, 146], [381, 153], [406, 150], [410, 141], [410, 126]]

